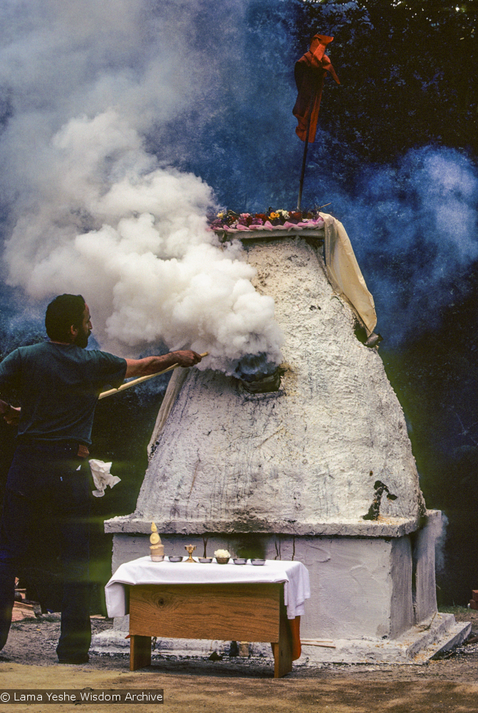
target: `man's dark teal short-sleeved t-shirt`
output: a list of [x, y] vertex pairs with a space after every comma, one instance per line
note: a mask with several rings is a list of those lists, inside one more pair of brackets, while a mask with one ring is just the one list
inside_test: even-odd
[[118, 388], [125, 372], [120, 356], [42, 342], [6, 356], [0, 389], [8, 384], [19, 391], [19, 436], [89, 445], [98, 395], [105, 386]]

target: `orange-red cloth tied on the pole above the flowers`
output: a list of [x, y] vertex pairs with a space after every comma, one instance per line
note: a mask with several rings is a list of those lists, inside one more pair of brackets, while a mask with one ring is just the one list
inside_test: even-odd
[[298, 120], [296, 134], [301, 141], [306, 140], [308, 117], [310, 115], [311, 125], [308, 131], [308, 143], [313, 143], [316, 138], [318, 110], [321, 106], [323, 80], [326, 72], [330, 72], [335, 81], [340, 84], [336, 71], [325, 54], [326, 47], [332, 40], [333, 37], [314, 35], [311, 48], [296, 62], [294, 74], [298, 95], [292, 113]]

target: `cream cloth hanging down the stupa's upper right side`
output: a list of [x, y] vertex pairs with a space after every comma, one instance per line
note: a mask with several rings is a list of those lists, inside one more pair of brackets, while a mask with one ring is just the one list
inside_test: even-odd
[[328, 281], [336, 292], [348, 300], [369, 337], [377, 324], [375, 303], [358, 267], [350, 238], [336, 218], [328, 213], [320, 215], [326, 224], [324, 253]]

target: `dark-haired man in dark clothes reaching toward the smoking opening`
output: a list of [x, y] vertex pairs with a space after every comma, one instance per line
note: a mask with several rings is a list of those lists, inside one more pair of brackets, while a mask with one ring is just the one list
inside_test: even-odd
[[86, 350], [90, 310], [81, 295], [48, 304], [49, 342], [19, 347], [0, 364], [0, 390], [16, 389], [21, 409], [0, 401], [4, 419], [19, 419], [18, 446], [9, 469], [0, 530], [0, 649], [9, 635], [17, 570], [48, 527], [63, 565], [61, 663], [85, 663], [91, 641], [88, 583], [90, 483], [81, 463], [89, 455], [98, 395], [128, 376], [146, 376], [173, 364], [193, 366], [189, 350], [145, 359], [121, 359]]

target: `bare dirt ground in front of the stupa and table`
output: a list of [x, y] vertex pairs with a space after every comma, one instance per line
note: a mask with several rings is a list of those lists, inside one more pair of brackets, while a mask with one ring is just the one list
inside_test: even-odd
[[[457, 620], [472, 621], [478, 635], [478, 612], [454, 611]], [[112, 621], [93, 619], [95, 632]], [[478, 711], [478, 643], [463, 645], [425, 665], [323, 665], [296, 667], [274, 680], [269, 665], [249, 667], [240, 658], [220, 661], [156, 659], [131, 673], [126, 655], [92, 655], [82, 666], [58, 665], [55, 646], [58, 615], [14, 622], [0, 653], [1, 689], [164, 689], [161, 710], [177, 713], [428, 713]], [[1, 693], [1, 691], [0, 691]], [[1, 697], [0, 697], [1, 698]], [[107, 713], [125, 707], [82, 704]], [[128, 704], [133, 712], [157, 704]], [[78, 711], [75, 704], [0, 702], [0, 713]]]

